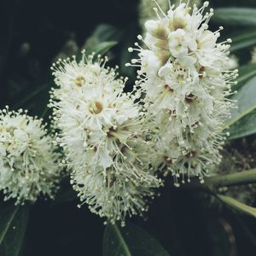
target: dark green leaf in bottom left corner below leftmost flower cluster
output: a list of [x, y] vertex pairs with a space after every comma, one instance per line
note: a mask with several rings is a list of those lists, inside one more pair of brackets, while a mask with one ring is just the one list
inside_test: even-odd
[[0, 210], [0, 255], [18, 256], [29, 216], [28, 207], [3, 207]]

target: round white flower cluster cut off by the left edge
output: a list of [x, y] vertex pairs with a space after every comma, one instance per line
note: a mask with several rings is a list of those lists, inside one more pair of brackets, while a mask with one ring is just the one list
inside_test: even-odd
[[53, 198], [60, 180], [59, 154], [41, 119], [26, 112], [0, 110], [0, 189], [16, 204]]

